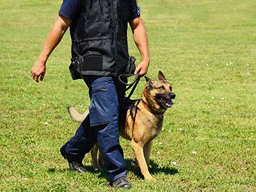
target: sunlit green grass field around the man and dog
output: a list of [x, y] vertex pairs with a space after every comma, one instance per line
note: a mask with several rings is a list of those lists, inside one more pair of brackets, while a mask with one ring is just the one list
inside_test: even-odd
[[[0, 3], [0, 191], [118, 191], [106, 172], [68, 171], [59, 148], [76, 131], [67, 106], [89, 104], [72, 81], [67, 33], [42, 83], [30, 77], [61, 1]], [[139, 0], [148, 31], [148, 77], [162, 70], [175, 105], [154, 140], [150, 172], [141, 179], [121, 140], [130, 191], [256, 191], [256, 4], [254, 0]], [[129, 33], [130, 54], [140, 60]], [[134, 98], [144, 88], [141, 81]], [[45, 125], [47, 123], [47, 125]], [[122, 191], [122, 190], [119, 190]]]

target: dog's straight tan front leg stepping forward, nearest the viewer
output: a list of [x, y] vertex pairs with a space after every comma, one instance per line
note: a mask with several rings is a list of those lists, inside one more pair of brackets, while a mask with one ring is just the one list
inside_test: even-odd
[[147, 166], [147, 163], [146, 163], [146, 160], [144, 157], [144, 153], [143, 153], [143, 144], [136, 143], [136, 141], [132, 140], [131, 145], [132, 145], [132, 150], [134, 152], [134, 155], [135, 155], [135, 157], [138, 161], [138, 164], [140, 166], [142, 175], [144, 176], [144, 178], [146, 180], [155, 181], [156, 179], [154, 179], [148, 172], [148, 166]]

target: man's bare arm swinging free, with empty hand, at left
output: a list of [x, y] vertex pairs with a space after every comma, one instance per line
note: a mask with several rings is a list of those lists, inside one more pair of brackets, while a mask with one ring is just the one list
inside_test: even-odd
[[71, 22], [72, 20], [67, 19], [61, 15], [59, 15], [54, 22], [54, 25], [52, 26], [49, 35], [45, 39], [42, 51], [30, 71], [31, 77], [33, 77], [36, 82], [39, 82], [39, 78], [40, 81], [43, 81], [46, 72], [46, 61], [49, 58], [51, 52], [60, 43], [62, 36], [67, 31], [68, 26], [70, 26]]

